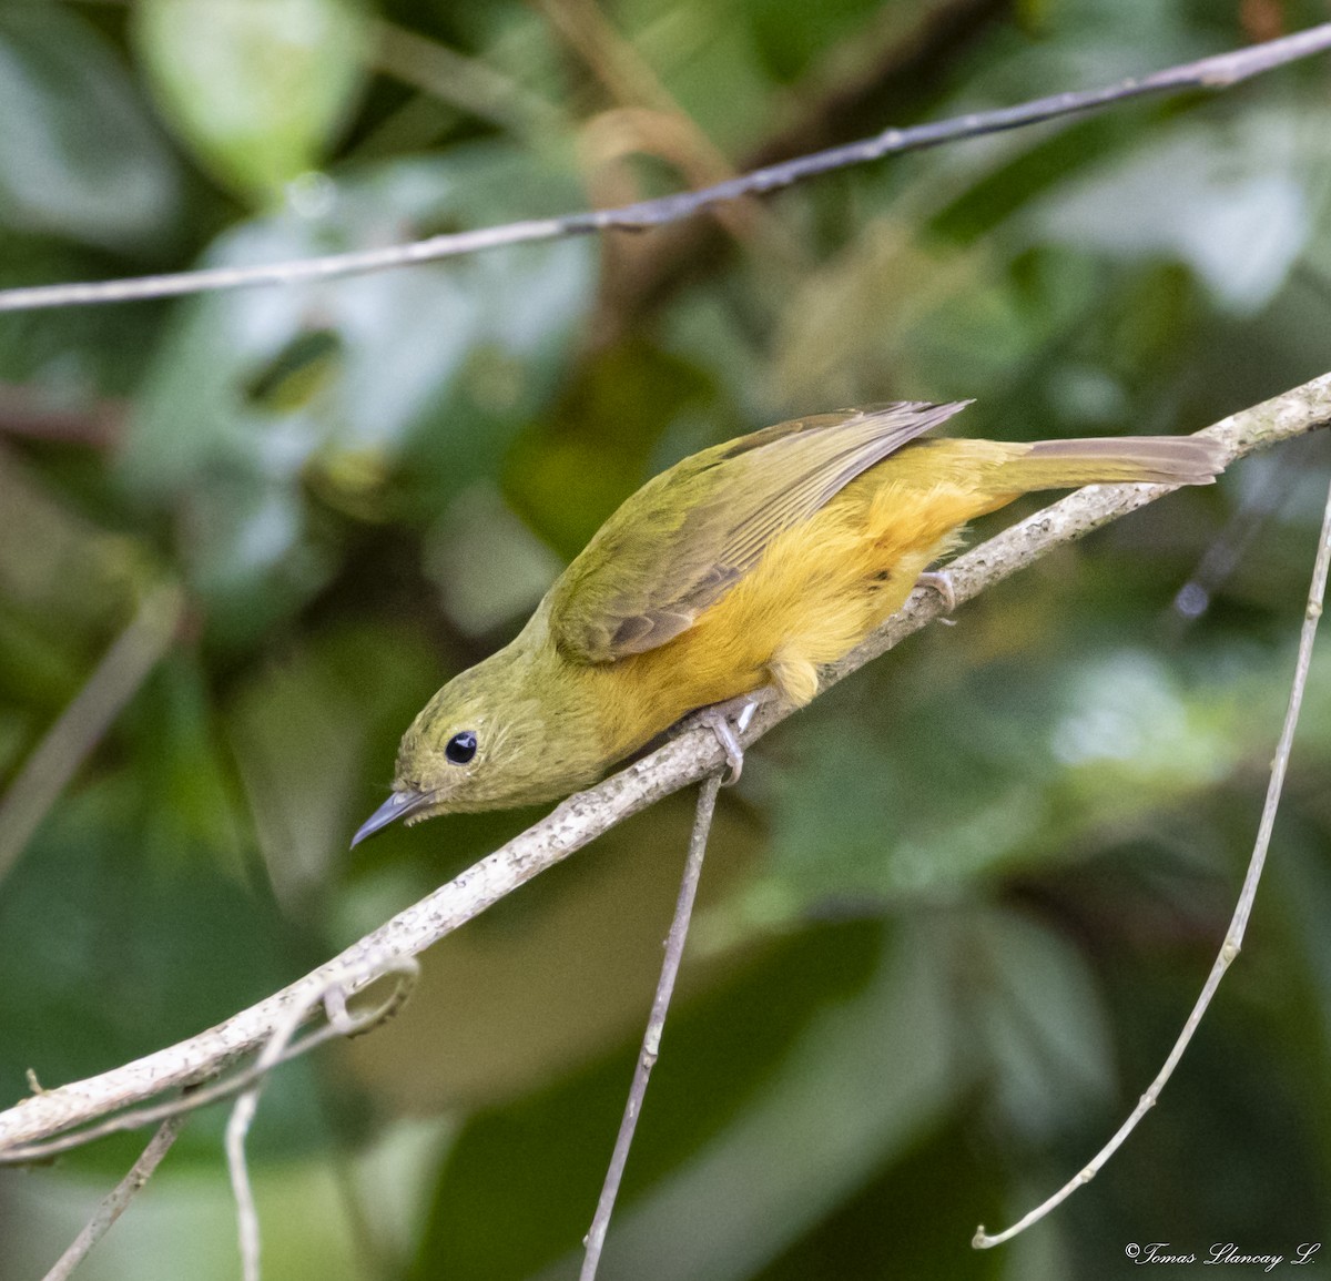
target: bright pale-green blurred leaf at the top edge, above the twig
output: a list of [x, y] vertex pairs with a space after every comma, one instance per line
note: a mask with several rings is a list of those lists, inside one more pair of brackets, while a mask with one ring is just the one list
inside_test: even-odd
[[318, 166], [361, 85], [357, 0], [142, 0], [134, 16], [162, 115], [218, 178], [265, 197]]

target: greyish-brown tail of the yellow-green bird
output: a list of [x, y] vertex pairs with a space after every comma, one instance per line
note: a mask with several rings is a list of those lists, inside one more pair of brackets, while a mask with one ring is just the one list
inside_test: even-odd
[[[1127, 435], [1041, 441], [1009, 466], [1021, 487], [1078, 485], [1210, 485], [1225, 470], [1225, 446], [1205, 435]], [[1005, 469], [1006, 470], [1006, 469]]]

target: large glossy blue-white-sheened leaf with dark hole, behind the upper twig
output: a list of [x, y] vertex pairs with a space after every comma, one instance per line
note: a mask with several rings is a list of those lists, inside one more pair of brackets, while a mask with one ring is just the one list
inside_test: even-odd
[[[244, 264], [410, 237], [576, 202], [559, 169], [503, 146], [407, 161], [321, 186], [318, 210], [245, 224], [209, 254]], [[334, 571], [331, 522], [397, 506], [437, 518], [492, 474], [555, 391], [591, 297], [586, 242], [190, 302], [157, 352], [121, 475], [185, 518], [194, 586], [218, 635], [244, 640]], [[390, 485], [401, 471], [401, 485]]]

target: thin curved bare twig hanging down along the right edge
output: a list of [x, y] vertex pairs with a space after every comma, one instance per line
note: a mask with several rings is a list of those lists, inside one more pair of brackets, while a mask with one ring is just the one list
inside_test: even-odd
[[1294, 664], [1294, 683], [1290, 686], [1290, 704], [1284, 712], [1284, 726], [1280, 730], [1280, 740], [1275, 750], [1275, 759], [1271, 762], [1271, 780], [1266, 788], [1266, 803], [1262, 806], [1262, 822], [1258, 824], [1256, 840], [1252, 846], [1252, 858], [1248, 860], [1247, 872], [1243, 876], [1243, 888], [1239, 891], [1239, 900], [1230, 920], [1230, 928], [1221, 944], [1221, 951], [1211, 965], [1211, 972], [1206, 976], [1202, 992], [1193, 1005], [1183, 1031], [1179, 1032], [1174, 1048], [1169, 1052], [1163, 1067], [1155, 1080], [1147, 1087], [1146, 1093], [1137, 1101], [1131, 1116], [1115, 1131], [1114, 1137], [1105, 1144], [1099, 1152], [1083, 1166], [1083, 1169], [1070, 1178], [1046, 1201], [1037, 1205], [1029, 1214], [1024, 1214], [1005, 1232], [989, 1236], [984, 1224], [976, 1229], [972, 1245], [984, 1250], [993, 1245], [1010, 1241], [1014, 1236], [1025, 1232], [1032, 1224], [1038, 1222], [1051, 1209], [1067, 1200], [1078, 1188], [1089, 1184], [1103, 1168], [1105, 1162], [1122, 1147], [1123, 1140], [1137, 1128], [1137, 1124], [1155, 1105], [1165, 1084], [1174, 1075], [1183, 1051], [1187, 1049], [1202, 1023], [1215, 989], [1221, 985], [1221, 979], [1239, 955], [1243, 945], [1243, 935], [1247, 931], [1248, 917], [1252, 913], [1252, 903], [1256, 897], [1258, 882], [1262, 879], [1262, 868], [1266, 866], [1266, 852], [1271, 844], [1271, 828], [1275, 824], [1275, 814], [1280, 807], [1280, 790], [1284, 787], [1284, 774], [1290, 764], [1290, 750], [1294, 746], [1294, 731], [1299, 723], [1299, 708], [1303, 706], [1303, 690], [1308, 683], [1308, 668], [1312, 663], [1312, 642], [1318, 634], [1318, 619], [1322, 618], [1322, 601], [1326, 595], [1327, 567], [1331, 566], [1331, 491], [1327, 493], [1326, 513], [1322, 518], [1322, 537], [1318, 543], [1316, 562], [1312, 567], [1312, 585], [1308, 589], [1308, 603], [1303, 615], [1303, 631], [1299, 637], [1299, 654]]

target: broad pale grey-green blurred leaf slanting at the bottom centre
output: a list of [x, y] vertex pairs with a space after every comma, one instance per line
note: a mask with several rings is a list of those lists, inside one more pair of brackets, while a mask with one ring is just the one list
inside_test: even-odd
[[610, 1274], [751, 1277], [938, 1124], [969, 1072], [926, 928], [889, 933], [862, 991], [823, 1005], [733, 1124], [620, 1216]]

